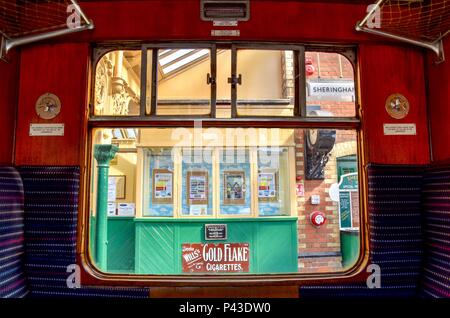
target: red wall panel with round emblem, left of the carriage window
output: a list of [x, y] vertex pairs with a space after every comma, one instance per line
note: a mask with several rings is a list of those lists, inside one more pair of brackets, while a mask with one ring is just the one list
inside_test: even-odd
[[[22, 51], [16, 165], [79, 165], [87, 109], [89, 46], [36, 45]], [[44, 93], [56, 94], [62, 104], [54, 119], [42, 120], [35, 103]], [[63, 137], [30, 137], [30, 123], [64, 123]]]

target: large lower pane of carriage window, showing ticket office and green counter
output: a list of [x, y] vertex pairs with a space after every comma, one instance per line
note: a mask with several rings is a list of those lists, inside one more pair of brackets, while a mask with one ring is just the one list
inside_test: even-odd
[[[356, 261], [355, 131], [138, 128], [131, 139], [117, 139], [113, 131], [94, 131], [92, 158], [92, 195], [105, 193], [107, 200], [91, 201], [91, 242], [98, 244], [98, 221], [106, 218], [106, 271], [117, 272], [125, 262], [135, 264], [127, 273], [158, 274], [162, 267], [166, 274], [190, 273], [181, 266], [182, 245], [206, 244], [205, 226], [211, 223], [227, 227], [229, 236], [217, 242], [250, 244], [250, 253], [284, 264], [259, 266], [263, 260], [256, 258], [241, 274], [342, 271]], [[201, 144], [218, 142], [199, 147], [194, 135]], [[109, 176], [124, 176], [125, 184], [101, 184], [99, 164], [114, 146]], [[318, 152], [326, 162], [318, 160]], [[346, 158], [354, 160], [351, 170], [342, 168]], [[124, 191], [119, 186], [126, 189], [123, 197], [117, 195]], [[161, 249], [168, 255], [162, 257]], [[154, 255], [162, 258], [151, 260]]]

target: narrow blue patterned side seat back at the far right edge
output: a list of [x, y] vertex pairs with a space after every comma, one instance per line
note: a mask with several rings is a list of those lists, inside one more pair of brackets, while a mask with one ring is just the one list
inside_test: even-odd
[[429, 169], [425, 175], [425, 297], [450, 297], [450, 166]]

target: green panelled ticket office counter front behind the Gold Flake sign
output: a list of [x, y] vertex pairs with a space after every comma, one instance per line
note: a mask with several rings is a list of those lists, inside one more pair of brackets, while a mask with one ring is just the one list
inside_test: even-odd
[[[206, 241], [205, 224], [227, 224], [227, 239]], [[91, 229], [92, 225], [95, 219], [91, 219]], [[91, 244], [95, 240], [93, 234], [91, 230]], [[248, 243], [249, 274], [298, 272], [297, 217], [109, 217], [108, 272], [183, 274], [185, 243]]]

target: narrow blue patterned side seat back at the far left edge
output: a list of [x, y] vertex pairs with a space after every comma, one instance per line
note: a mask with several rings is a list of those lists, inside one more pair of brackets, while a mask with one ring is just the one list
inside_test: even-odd
[[0, 298], [28, 294], [23, 270], [23, 186], [19, 173], [0, 167]]

